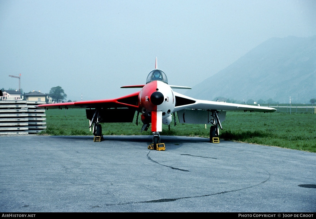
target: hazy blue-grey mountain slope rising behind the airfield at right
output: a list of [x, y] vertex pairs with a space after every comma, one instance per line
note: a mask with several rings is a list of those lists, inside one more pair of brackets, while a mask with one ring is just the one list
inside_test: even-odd
[[185, 94], [309, 103], [316, 98], [316, 36], [271, 38]]

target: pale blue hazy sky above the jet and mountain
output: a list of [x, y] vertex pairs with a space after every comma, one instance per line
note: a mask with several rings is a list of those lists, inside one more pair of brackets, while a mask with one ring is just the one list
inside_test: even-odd
[[289, 35], [316, 35], [316, 1], [2, 0], [0, 88], [21, 74], [26, 93], [114, 98], [136, 92], [119, 87], [144, 84], [156, 57], [170, 85], [192, 87]]

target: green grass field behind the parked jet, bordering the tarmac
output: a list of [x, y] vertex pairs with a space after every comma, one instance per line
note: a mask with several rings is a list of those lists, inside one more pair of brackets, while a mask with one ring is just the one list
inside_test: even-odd
[[[298, 108], [302, 109], [302, 108]], [[285, 109], [286, 110], [286, 109]], [[285, 147], [316, 153], [316, 115], [312, 109], [295, 109], [291, 115], [284, 110], [275, 113], [227, 112], [226, 120], [222, 122], [220, 139], [241, 141], [261, 145]], [[283, 112], [282, 112], [283, 111]], [[289, 110], [288, 110], [289, 112]], [[135, 114], [136, 115], [136, 114]], [[177, 119], [178, 121], [178, 119]], [[46, 111], [47, 129], [41, 134], [48, 135], [92, 135], [89, 131], [89, 120], [84, 109]], [[102, 123], [103, 135], [152, 135], [149, 131], [140, 132], [142, 122], [136, 116], [133, 123]], [[200, 136], [209, 138], [210, 125], [180, 124], [170, 130], [163, 125], [161, 135]]]

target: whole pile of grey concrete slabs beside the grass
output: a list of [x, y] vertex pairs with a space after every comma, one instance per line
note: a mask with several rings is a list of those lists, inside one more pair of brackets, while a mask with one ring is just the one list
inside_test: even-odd
[[46, 128], [44, 109], [35, 106], [40, 101], [0, 101], [0, 135], [39, 133]]

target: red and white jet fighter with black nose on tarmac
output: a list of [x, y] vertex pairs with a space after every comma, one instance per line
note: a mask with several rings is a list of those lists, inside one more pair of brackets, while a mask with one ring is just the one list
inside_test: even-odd
[[180, 123], [211, 124], [211, 142], [213, 137], [219, 135], [219, 128], [222, 129], [221, 121], [224, 121], [226, 116], [226, 111], [223, 110], [264, 113], [276, 111], [270, 107], [198, 100], [179, 94], [173, 89], [191, 88], [169, 85], [165, 72], [157, 68], [157, 58], [155, 69], [149, 72], [146, 84], [121, 88], [141, 88], [141, 90], [115, 99], [40, 104], [36, 107], [39, 109], [86, 108], [87, 119], [90, 120], [89, 127], [93, 127], [94, 136], [102, 136], [100, 123], [133, 122], [135, 112], [137, 112], [137, 124], [141, 113], [143, 122], [141, 131], [147, 131], [151, 124], [154, 149], [160, 143], [162, 124], [169, 125], [175, 112], [178, 114]]

